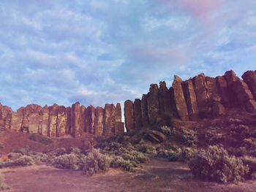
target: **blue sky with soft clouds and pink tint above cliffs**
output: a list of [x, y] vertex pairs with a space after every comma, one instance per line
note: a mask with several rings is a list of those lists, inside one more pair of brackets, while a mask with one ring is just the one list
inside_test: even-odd
[[1, 0], [0, 102], [104, 107], [255, 70], [256, 1]]

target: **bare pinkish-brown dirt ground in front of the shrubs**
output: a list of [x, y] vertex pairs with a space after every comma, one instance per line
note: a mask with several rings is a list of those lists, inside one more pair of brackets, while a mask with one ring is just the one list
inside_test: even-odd
[[74, 192], [74, 191], [255, 191], [256, 181], [219, 184], [196, 180], [187, 164], [153, 158], [135, 172], [110, 169], [108, 172], [86, 176], [81, 171], [56, 169], [45, 164], [1, 169], [8, 192]]

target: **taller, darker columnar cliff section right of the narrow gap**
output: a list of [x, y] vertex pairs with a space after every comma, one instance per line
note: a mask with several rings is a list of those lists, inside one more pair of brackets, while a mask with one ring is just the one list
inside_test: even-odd
[[124, 102], [127, 131], [155, 123], [163, 112], [171, 112], [180, 120], [216, 118], [229, 108], [256, 112], [256, 71], [245, 72], [242, 78], [231, 70], [223, 76], [199, 74], [185, 81], [175, 75], [169, 89], [165, 82], [159, 82], [159, 88], [151, 84], [141, 101]]

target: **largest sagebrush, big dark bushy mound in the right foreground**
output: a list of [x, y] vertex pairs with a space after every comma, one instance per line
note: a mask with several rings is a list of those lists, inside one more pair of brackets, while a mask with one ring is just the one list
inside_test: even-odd
[[195, 177], [222, 183], [241, 181], [249, 171], [241, 159], [230, 156], [223, 147], [209, 146], [189, 161], [189, 168]]

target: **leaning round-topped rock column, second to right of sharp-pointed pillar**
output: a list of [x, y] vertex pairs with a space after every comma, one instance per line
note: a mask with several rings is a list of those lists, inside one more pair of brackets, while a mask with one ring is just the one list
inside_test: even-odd
[[192, 79], [195, 95], [197, 96], [197, 106], [199, 110], [199, 115], [201, 118], [207, 118], [211, 115], [211, 103], [208, 100], [206, 91], [206, 77], [205, 75], [199, 74]]

